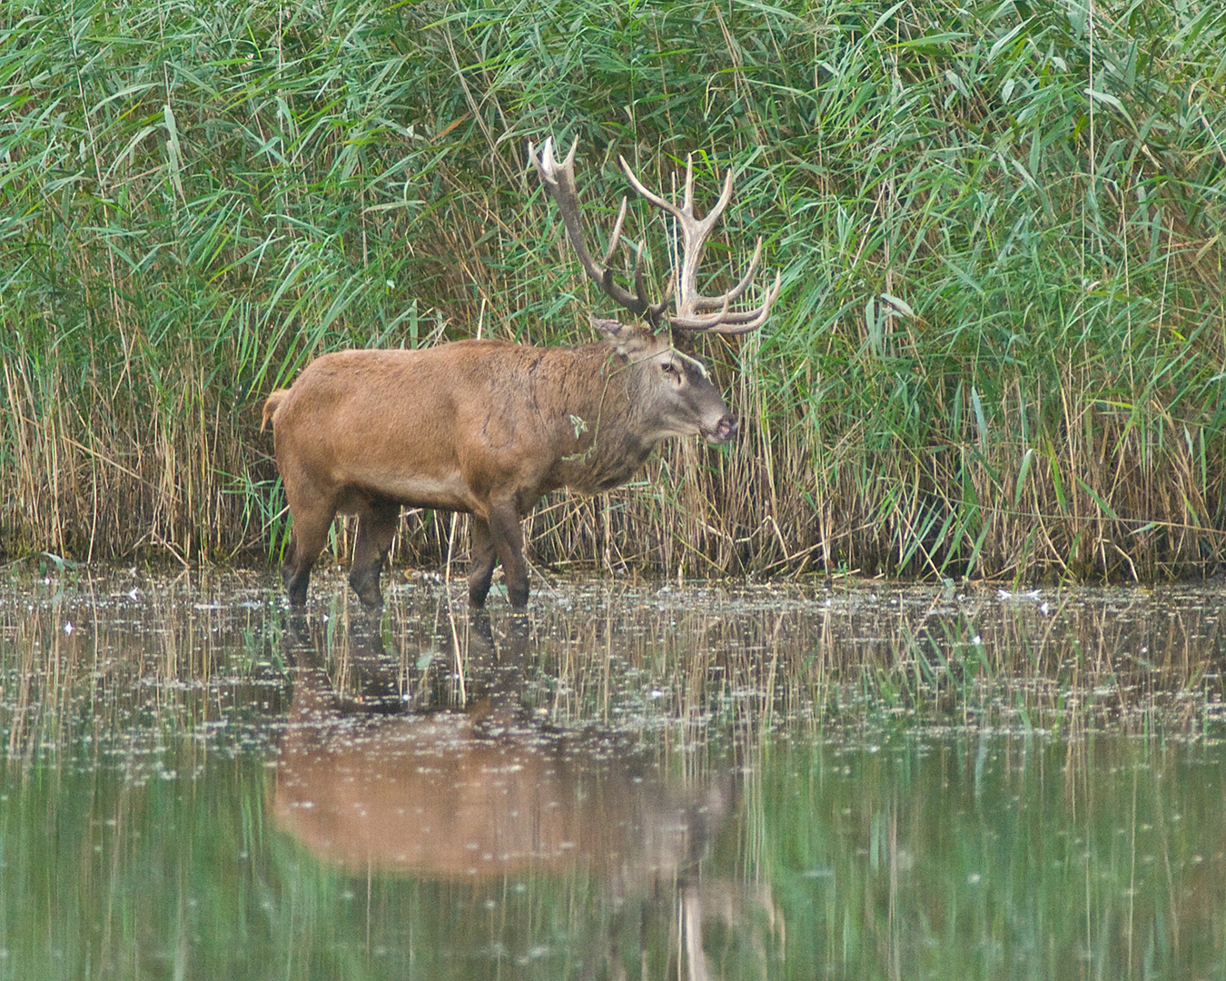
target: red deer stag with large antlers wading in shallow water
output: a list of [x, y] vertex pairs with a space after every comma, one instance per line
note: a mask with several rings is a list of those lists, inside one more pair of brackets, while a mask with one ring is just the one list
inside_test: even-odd
[[381, 601], [379, 574], [402, 505], [472, 515], [468, 600], [482, 606], [495, 560], [508, 598], [525, 606], [528, 574], [520, 521], [560, 487], [593, 494], [625, 483], [666, 437], [729, 440], [737, 421], [702, 364], [677, 351], [667, 331], [744, 334], [766, 320], [780, 280], [752, 309], [737, 307], [761, 251], [728, 292], [698, 292], [698, 264], [732, 196], [732, 173], [705, 218], [694, 215], [693, 166], [680, 206], [639, 183], [634, 189], [677, 219], [682, 264], [669, 299], [649, 303], [635, 259], [634, 288], [613, 278], [626, 202], [602, 261], [588, 251], [575, 188], [576, 145], [558, 163], [552, 140], [528, 156], [562, 212], [587, 275], [645, 323], [592, 320], [603, 342], [530, 347], [497, 340], [455, 341], [421, 351], [342, 351], [311, 362], [289, 389], [264, 405], [272, 421], [286, 488], [292, 549], [282, 567], [289, 602], [306, 601], [310, 569], [337, 513], [358, 515], [349, 584], [367, 606]]

